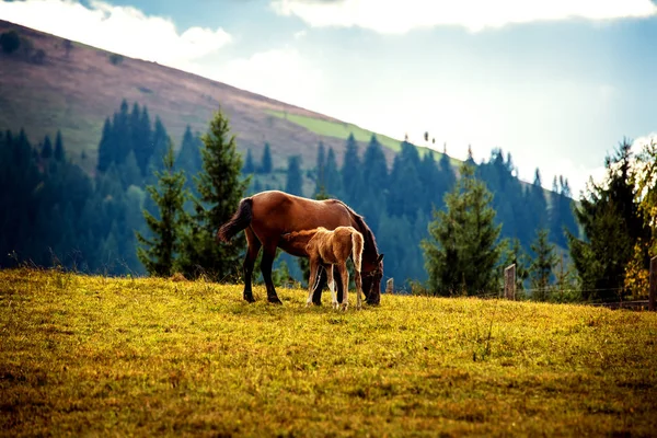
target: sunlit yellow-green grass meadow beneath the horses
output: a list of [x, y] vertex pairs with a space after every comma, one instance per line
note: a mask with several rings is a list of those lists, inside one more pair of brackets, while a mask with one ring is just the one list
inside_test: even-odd
[[[0, 270], [0, 433], [649, 436], [657, 314]], [[351, 299], [355, 297], [351, 295]], [[326, 297], [324, 297], [326, 300]]]

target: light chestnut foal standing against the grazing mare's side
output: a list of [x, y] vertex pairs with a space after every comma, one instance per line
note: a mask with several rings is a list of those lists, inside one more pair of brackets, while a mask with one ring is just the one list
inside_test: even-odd
[[319, 227], [314, 230], [295, 231], [283, 234], [281, 239], [288, 244], [295, 246], [298, 251], [304, 252], [310, 258], [310, 278], [308, 279], [308, 300], [307, 306], [312, 303], [312, 292], [319, 281], [319, 267], [326, 269], [328, 288], [333, 308], [337, 308], [337, 298], [335, 293], [335, 280], [333, 278], [333, 266], [337, 266], [339, 278], [343, 283], [343, 302], [342, 310], [347, 310], [347, 289], [349, 287], [349, 272], [347, 270], [347, 258], [351, 256], [354, 262], [354, 280], [356, 283], [357, 308], [361, 308], [360, 295], [362, 292], [362, 281], [360, 267], [362, 261], [362, 234], [353, 227], [337, 227], [333, 231]]

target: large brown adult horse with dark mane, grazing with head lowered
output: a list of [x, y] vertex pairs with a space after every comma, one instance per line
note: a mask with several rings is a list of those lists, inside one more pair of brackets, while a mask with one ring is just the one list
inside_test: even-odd
[[279, 246], [296, 256], [308, 257], [304, 251], [295, 250], [280, 237], [292, 231], [312, 230], [318, 227], [334, 230], [341, 226], [354, 227], [365, 239], [362, 290], [369, 304], [379, 304], [383, 254], [379, 254], [374, 235], [362, 217], [337, 199], [313, 200], [278, 191], [262, 192], [240, 201], [238, 211], [219, 228], [217, 239], [228, 242], [238, 232], [245, 230], [249, 249], [243, 265], [244, 299], [249, 302], [254, 301], [251, 276], [255, 258], [262, 247], [261, 270], [267, 288], [267, 300], [280, 303], [272, 283], [272, 264], [276, 247]]

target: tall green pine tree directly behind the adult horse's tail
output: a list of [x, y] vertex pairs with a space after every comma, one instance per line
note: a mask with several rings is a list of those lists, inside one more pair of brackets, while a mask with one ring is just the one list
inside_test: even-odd
[[203, 136], [203, 170], [194, 177], [199, 198], [194, 199], [195, 212], [187, 221], [181, 250], [181, 270], [188, 278], [207, 275], [224, 280], [240, 273], [240, 252], [245, 240], [240, 237], [230, 245], [215, 241], [219, 227], [238, 209], [250, 178], [240, 180], [242, 155], [235, 137], [230, 135], [228, 118], [215, 113], [208, 131]]

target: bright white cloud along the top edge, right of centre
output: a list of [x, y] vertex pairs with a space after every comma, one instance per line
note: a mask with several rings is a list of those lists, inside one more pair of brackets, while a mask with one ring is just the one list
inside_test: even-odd
[[272, 7], [280, 15], [297, 15], [313, 27], [358, 26], [384, 34], [437, 25], [460, 25], [477, 32], [510, 23], [657, 13], [650, 0], [273, 0]]

